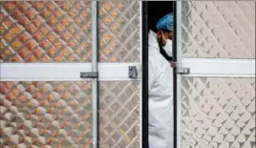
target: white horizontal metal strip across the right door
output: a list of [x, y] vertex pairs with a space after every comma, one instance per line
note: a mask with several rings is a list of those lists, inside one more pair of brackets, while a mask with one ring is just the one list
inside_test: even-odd
[[255, 59], [183, 58], [179, 66], [190, 68], [183, 76], [255, 77]]

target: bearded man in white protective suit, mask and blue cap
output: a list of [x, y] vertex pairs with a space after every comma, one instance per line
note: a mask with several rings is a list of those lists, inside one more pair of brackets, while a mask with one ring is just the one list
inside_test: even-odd
[[148, 34], [149, 148], [173, 148], [173, 69], [160, 50], [172, 56], [173, 14], [160, 18], [158, 34]]

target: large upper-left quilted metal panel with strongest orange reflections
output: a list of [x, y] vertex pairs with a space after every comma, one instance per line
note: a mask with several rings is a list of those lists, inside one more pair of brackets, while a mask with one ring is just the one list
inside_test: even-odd
[[0, 62], [91, 61], [91, 2], [0, 2]]

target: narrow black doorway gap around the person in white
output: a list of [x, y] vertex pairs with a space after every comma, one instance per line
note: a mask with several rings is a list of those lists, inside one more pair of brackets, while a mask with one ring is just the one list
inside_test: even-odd
[[[175, 1], [144, 1], [142, 2], [142, 147], [148, 148], [148, 32], [157, 32], [156, 25], [162, 16], [173, 12], [174, 31], [173, 31], [173, 57], [169, 58], [165, 53], [162, 55], [168, 61], [177, 59], [177, 40], [176, 40], [176, 2]], [[177, 74], [173, 70], [173, 116], [174, 116], [174, 148], [177, 147]]]

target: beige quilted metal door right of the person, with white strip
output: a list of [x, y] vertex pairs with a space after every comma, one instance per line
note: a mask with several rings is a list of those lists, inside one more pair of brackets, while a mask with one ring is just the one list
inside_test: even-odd
[[177, 41], [177, 147], [255, 148], [255, 2], [177, 2]]

